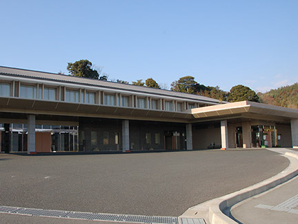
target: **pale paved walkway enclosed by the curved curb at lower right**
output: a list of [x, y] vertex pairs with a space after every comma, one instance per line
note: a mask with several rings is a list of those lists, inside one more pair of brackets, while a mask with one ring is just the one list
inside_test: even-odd
[[[298, 159], [297, 150], [292, 152]], [[298, 223], [298, 176], [263, 194], [237, 203], [230, 213], [237, 223]]]

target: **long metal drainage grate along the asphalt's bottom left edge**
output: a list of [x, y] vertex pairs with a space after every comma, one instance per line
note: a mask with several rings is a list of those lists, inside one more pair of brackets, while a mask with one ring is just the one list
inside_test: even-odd
[[18, 208], [0, 206], [0, 213], [46, 216], [65, 219], [85, 219], [92, 221], [121, 221], [134, 223], [178, 224], [177, 217], [171, 216], [140, 216], [126, 214], [103, 214], [91, 212], [68, 212], [60, 210], [43, 210], [37, 208]]

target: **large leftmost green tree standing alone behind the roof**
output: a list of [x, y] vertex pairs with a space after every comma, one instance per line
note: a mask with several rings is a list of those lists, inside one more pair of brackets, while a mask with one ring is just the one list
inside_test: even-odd
[[68, 63], [67, 69], [72, 76], [99, 78], [99, 73], [92, 69], [92, 63], [89, 60], [78, 60], [75, 63]]

